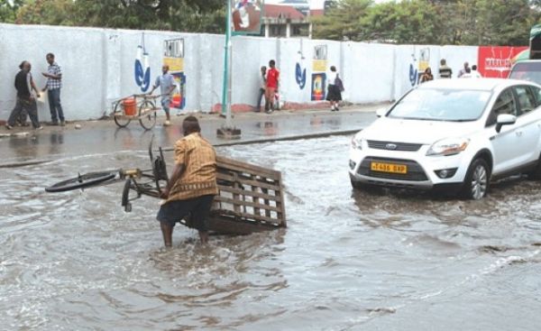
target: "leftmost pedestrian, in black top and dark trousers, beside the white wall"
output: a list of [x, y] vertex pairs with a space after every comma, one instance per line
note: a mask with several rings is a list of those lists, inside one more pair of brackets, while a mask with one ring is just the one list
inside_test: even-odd
[[30, 73], [32, 65], [29, 61], [23, 61], [21, 65], [19, 65], [19, 69], [21, 70], [15, 75], [17, 102], [11, 115], [9, 115], [5, 127], [8, 130], [11, 130], [14, 127], [15, 120], [20, 118], [23, 112], [26, 112], [30, 116], [33, 128], [41, 130], [42, 127], [38, 118], [38, 106], [36, 105], [35, 97], [32, 96], [33, 90], [36, 93], [36, 97], [40, 97], [40, 92], [34, 84], [32, 74]]

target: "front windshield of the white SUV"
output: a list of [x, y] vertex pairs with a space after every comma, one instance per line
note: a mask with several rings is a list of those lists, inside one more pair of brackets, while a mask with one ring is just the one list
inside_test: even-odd
[[475, 121], [491, 92], [459, 89], [416, 88], [403, 97], [388, 115], [426, 121]]

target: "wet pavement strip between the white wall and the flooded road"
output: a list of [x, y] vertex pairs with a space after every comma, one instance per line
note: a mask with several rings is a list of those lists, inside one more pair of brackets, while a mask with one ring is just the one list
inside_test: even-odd
[[[225, 125], [225, 118], [215, 114], [196, 113], [203, 136], [215, 146], [240, 143], [264, 143], [279, 140], [314, 138], [333, 134], [354, 133], [376, 119], [375, 110], [389, 104], [350, 106], [339, 112], [330, 110], [275, 111], [265, 113], [235, 114], [233, 124], [241, 129], [238, 140], [224, 140], [216, 130]], [[28, 127], [13, 130], [0, 128], [0, 151], [3, 160], [0, 168], [56, 160], [63, 157], [101, 154], [117, 151], [145, 151], [154, 135], [154, 146], [170, 148], [182, 137], [179, 126], [185, 115], [171, 116], [170, 126], [163, 126], [159, 116], [156, 126], [145, 131], [133, 121], [125, 128], [113, 120], [81, 121], [64, 127], [47, 126], [41, 131]], [[80, 129], [76, 129], [76, 125]]]

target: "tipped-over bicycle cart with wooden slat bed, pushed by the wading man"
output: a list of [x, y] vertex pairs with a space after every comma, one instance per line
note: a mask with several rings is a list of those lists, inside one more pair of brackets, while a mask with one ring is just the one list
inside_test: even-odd
[[[149, 147], [151, 169], [120, 169], [89, 172], [62, 180], [48, 192], [91, 188], [124, 181], [121, 205], [132, 211], [132, 201], [142, 196], [160, 198], [168, 175], [163, 152], [155, 156]], [[250, 163], [217, 157], [219, 193], [208, 218], [209, 231], [215, 234], [251, 234], [286, 227], [283, 185], [280, 171]], [[189, 216], [180, 223], [191, 227]]]

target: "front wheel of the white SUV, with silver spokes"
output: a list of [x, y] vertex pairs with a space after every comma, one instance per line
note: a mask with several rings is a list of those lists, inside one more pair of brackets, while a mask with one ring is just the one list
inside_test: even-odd
[[489, 191], [490, 181], [491, 169], [489, 168], [487, 161], [475, 159], [472, 161], [463, 182], [463, 198], [472, 200], [484, 198]]

